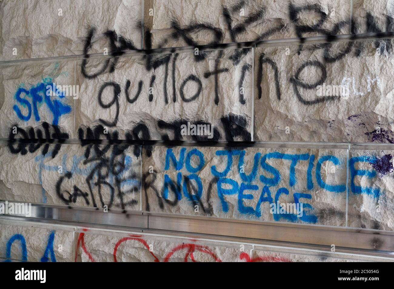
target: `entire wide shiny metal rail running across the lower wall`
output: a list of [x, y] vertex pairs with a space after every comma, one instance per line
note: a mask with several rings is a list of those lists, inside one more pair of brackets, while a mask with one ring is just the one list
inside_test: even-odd
[[[1, 202], [5, 202], [0, 200]], [[21, 203], [21, 202], [14, 202]], [[133, 232], [165, 234], [264, 245], [286, 245], [335, 252], [351, 252], [392, 258], [394, 232], [294, 223], [222, 219], [179, 214], [32, 204], [32, 214], [2, 215], [1, 218], [43, 223], [78, 225]]]

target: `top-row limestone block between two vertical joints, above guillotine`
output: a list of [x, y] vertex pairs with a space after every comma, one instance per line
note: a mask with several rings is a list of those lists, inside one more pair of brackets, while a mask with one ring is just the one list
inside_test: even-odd
[[152, 48], [349, 34], [350, 0], [151, 0], [144, 20]]

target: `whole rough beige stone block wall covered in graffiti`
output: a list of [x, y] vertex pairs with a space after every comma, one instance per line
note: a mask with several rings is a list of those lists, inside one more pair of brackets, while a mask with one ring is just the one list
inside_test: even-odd
[[[8, 139], [0, 143], [0, 199], [394, 230], [393, 40], [355, 36], [394, 31], [394, 1], [3, 0], [0, 7], [0, 138]], [[347, 34], [353, 39], [333, 41]], [[175, 50], [184, 46], [192, 48]], [[206, 130], [194, 133], [194, 125]], [[258, 143], [234, 148], [234, 141]], [[271, 212], [277, 203], [303, 208]], [[26, 257], [23, 242], [27, 260], [40, 260], [51, 236], [67, 252], [55, 252], [61, 261], [73, 260], [71, 244], [77, 261], [320, 258], [1, 226], [2, 258], [11, 258], [14, 240], [22, 246], [10, 247], [12, 256], [22, 252], [17, 260]]]

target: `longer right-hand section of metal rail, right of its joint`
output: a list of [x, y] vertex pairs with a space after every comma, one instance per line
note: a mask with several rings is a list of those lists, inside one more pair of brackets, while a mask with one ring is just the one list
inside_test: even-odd
[[[149, 217], [149, 229], [182, 231], [219, 236], [307, 243], [323, 246], [394, 251], [394, 236], [363, 232], [340, 232], [316, 228], [279, 227], [263, 224], [205, 221], [175, 217]], [[377, 244], [379, 247], [377, 248]]]

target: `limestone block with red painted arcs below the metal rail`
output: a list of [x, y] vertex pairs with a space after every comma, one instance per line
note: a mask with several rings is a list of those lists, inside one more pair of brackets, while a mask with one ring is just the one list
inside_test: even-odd
[[[249, 252], [251, 245], [244, 245]], [[89, 262], [236, 262], [239, 244], [178, 239], [166, 236], [91, 232], [78, 234], [75, 261]]]

